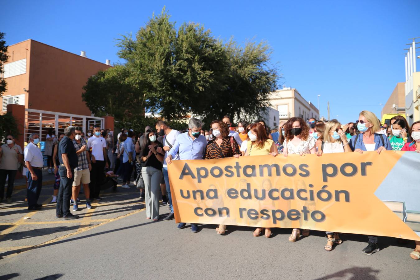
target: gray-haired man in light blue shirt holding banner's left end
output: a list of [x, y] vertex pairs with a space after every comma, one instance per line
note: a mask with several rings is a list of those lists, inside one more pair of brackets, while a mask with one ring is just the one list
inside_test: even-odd
[[[168, 152], [168, 157], [166, 157], [168, 165], [172, 163], [172, 159], [175, 159], [177, 154], [180, 160], [202, 160], [204, 158], [207, 141], [205, 136], [200, 134], [202, 126], [203, 123], [199, 119], [191, 118], [189, 120], [188, 131], [176, 137], [175, 144]], [[178, 229], [184, 227], [185, 222], [178, 224]], [[191, 224], [191, 231], [198, 232], [196, 224]]]

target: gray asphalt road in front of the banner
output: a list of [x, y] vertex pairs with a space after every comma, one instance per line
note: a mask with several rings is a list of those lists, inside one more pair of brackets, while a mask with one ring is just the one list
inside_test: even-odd
[[327, 252], [321, 232], [296, 243], [288, 241], [291, 229], [273, 230], [271, 238], [234, 226], [225, 236], [214, 225], [192, 233], [189, 225], [176, 229], [174, 220], [146, 220], [139, 209], [5, 256], [0, 279], [420, 279], [420, 261], [409, 257], [414, 242], [380, 238], [381, 251], [367, 256], [367, 238], [349, 234]]

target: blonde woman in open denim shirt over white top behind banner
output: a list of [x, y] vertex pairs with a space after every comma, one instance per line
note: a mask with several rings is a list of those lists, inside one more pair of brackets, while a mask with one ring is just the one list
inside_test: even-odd
[[[379, 123], [376, 115], [370, 111], [362, 111], [359, 114], [359, 120], [356, 121], [357, 129], [360, 131], [360, 134], [353, 136], [350, 139], [350, 148], [354, 152], [359, 152], [363, 154], [366, 151], [376, 151], [378, 154], [381, 154], [382, 151], [392, 150], [391, 143], [388, 138], [375, 131], [379, 131], [381, 128], [381, 123]], [[363, 253], [371, 255], [375, 252], [378, 252], [378, 236], [368, 236], [369, 242]]]

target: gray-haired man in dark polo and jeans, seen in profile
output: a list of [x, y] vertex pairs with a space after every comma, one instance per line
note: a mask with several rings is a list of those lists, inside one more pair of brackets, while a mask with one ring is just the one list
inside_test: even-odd
[[74, 126], [64, 129], [64, 137], [58, 144], [58, 174], [60, 175], [60, 188], [58, 189], [55, 216], [64, 219], [78, 219], [79, 216], [70, 213], [71, 190], [74, 181], [74, 168], [78, 167], [76, 148], [73, 139], [76, 136]]

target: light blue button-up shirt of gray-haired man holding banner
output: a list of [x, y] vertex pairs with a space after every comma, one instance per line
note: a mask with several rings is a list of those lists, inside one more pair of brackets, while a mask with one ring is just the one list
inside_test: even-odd
[[176, 137], [175, 144], [169, 150], [169, 155], [175, 158], [176, 154], [179, 154], [180, 160], [202, 160], [206, 152], [206, 145], [207, 140], [205, 136], [200, 134], [193, 141], [191, 136], [189, 136], [189, 131], [187, 131]]

